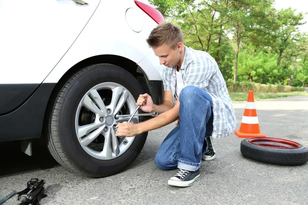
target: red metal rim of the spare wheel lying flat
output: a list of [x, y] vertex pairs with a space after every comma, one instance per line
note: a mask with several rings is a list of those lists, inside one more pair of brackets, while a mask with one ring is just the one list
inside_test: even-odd
[[255, 137], [248, 139], [254, 145], [276, 149], [298, 149], [300, 144], [295, 141], [271, 137]]

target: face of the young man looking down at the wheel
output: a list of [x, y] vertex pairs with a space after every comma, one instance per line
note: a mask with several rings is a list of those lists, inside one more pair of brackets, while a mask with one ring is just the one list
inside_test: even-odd
[[180, 51], [182, 50], [182, 43], [179, 43], [177, 48], [171, 49], [167, 45], [162, 45], [157, 48], [153, 48], [156, 56], [159, 57], [159, 63], [168, 68], [173, 68], [180, 60]]

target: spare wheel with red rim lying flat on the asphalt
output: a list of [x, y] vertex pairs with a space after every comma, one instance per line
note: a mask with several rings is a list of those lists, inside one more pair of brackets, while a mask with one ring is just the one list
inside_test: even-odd
[[253, 137], [241, 141], [243, 156], [275, 165], [295, 166], [308, 161], [308, 148], [295, 141]]

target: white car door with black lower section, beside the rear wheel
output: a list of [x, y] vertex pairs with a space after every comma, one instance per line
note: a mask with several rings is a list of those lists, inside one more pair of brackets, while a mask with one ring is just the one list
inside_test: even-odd
[[42, 83], [99, 3], [0, 1], [0, 115], [21, 105]]

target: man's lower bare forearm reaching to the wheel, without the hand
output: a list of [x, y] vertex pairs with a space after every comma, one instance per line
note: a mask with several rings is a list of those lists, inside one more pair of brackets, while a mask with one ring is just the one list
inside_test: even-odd
[[[172, 96], [172, 95], [171, 95]], [[180, 110], [180, 96], [178, 97], [176, 105], [163, 112], [162, 114], [158, 115], [157, 117], [154, 117], [152, 119], [149, 119], [147, 121], [141, 122], [139, 124], [136, 124], [138, 133], [148, 132], [151, 130], [155, 130], [161, 127], [164, 127], [171, 122], [176, 121], [179, 119], [179, 110]]]

